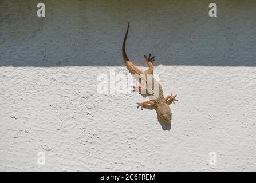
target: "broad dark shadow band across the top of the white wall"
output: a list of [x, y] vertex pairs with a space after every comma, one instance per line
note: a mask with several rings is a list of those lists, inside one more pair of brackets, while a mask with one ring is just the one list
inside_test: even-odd
[[0, 66], [123, 66], [127, 53], [155, 65], [256, 66], [256, 1], [44, 1], [0, 2]]

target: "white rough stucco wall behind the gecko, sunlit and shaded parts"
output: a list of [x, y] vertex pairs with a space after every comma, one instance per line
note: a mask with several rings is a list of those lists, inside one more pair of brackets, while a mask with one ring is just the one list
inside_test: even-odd
[[[256, 170], [255, 1], [0, 2], [0, 170]], [[97, 76], [156, 56], [172, 126]], [[145, 68], [144, 68], [145, 69]], [[45, 153], [45, 165], [37, 153]], [[209, 164], [216, 152], [217, 165]]]

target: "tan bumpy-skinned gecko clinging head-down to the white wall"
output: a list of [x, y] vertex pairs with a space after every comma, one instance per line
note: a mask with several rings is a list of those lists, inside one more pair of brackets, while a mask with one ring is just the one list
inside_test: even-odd
[[[164, 97], [162, 86], [158, 81], [156, 81], [155, 78], [152, 77], [153, 69], [154, 69], [153, 62], [155, 61], [155, 57], [151, 57], [151, 54], [149, 54], [148, 57], [144, 55], [148, 65], [148, 69], [146, 71], [139, 69], [128, 59], [125, 51], [125, 44], [126, 44], [128, 31], [129, 31], [129, 23], [127, 26], [127, 31], [125, 33], [123, 46], [122, 46], [122, 55], [123, 55], [124, 63], [131, 74], [139, 77], [140, 85], [132, 86], [133, 91], [139, 90], [139, 92], [141, 93], [141, 91], [144, 89], [142, 87], [144, 85], [141, 85], [141, 83], [144, 82], [147, 86], [145, 91], [147, 96], [149, 97], [149, 101], [137, 102], [137, 108], [141, 107], [141, 110], [143, 110], [143, 108], [147, 108], [148, 106], [153, 107], [156, 109], [157, 115], [160, 118], [162, 118], [164, 122], [166, 122], [167, 124], [171, 124], [172, 112], [169, 105], [172, 103], [175, 103], [175, 101], [178, 101], [176, 99], [177, 95], [176, 94], [173, 95], [171, 93], [167, 97]], [[151, 79], [149, 79], [150, 77], [148, 76], [151, 76]]]

